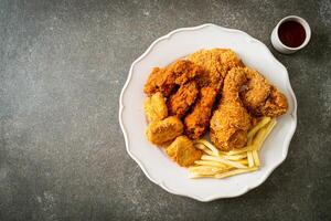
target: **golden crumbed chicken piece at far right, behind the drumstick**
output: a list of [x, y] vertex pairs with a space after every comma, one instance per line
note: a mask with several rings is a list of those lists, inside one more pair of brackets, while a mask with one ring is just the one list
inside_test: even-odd
[[287, 98], [255, 70], [244, 69], [247, 87], [241, 92], [244, 106], [254, 116], [277, 117], [287, 112]]

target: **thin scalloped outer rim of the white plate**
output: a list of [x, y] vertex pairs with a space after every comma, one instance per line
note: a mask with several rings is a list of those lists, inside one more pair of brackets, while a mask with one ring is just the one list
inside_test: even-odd
[[[170, 189], [168, 188], [163, 181], [160, 181], [158, 182], [156, 179], [153, 179], [148, 170], [145, 168], [143, 164], [130, 151], [129, 149], [129, 138], [128, 138], [128, 135], [127, 135], [127, 131], [126, 131], [126, 127], [122, 123], [122, 113], [124, 113], [124, 109], [125, 109], [125, 105], [124, 105], [124, 94], [129, 85], [129, 83], [131, 82], [131, 77], [132, 77], [132, 73], [134, 73], [134, 67], [136, 66], [137, 63], [139, 63], [142, 59], [145, 59], [149, 52], [160, 42], [160, 41], [163, 41], [163, 40], [167, 40], [167, 39], [170, 39], [173, 34], [175, 33], [179, 33], [179, 32], [185, 32], [185, 31], [194, 31], [194, 30], [200, 30], [200, 29], [204, 29], [204, 28], [207, 28], [207, 27], [213, 27], [213, 28], [216, 28], [216, 29], [221, 29], [222, 31], [225, 31], [225, 32], [232, 32], [232, 33], [238, 33], [238, 34], [242, 34], [246, 38], [248, 38], [252, 42], [254, 43], [257, 43], [257, 44], [260, 44], [265, 48], [265, 50], [268, 52], [269, 56], [285, 71], [286, 73], [286, 81], [287, 81], [287, 86], [286, 88], [289, 91], [289, 94], [291, 95], [292, 99], [293, 99], [293, 108], [292, 108], [292, 112], [290, 113], [290, 116], [293, 120], [293, 126], [291, 127], [291, 130], [289, 131], [288, 134], [288, 138], [287, 140], [285, 140], [285, 149], [282, 150], [282, 158], [281, 160], [279, 161], [279, 164], [276, 164], [274, 167], [271, 167], [268, 171], [265, 172], [265, 175], [261, 176], [261, 178], [255, 182], [253, 186], [248, 186], [246, 185], [244, 188], [243, 188], [243, 191], [239, 191], [235, 194], [227, 194], [227, 196], [217, 196], [217, 192], [215, 192], [215, 194], [213, 196], [209, 196], [209, 197], [199, 197], [199, 196], [189, 196], [189, 194], [185, 194], [185, 193], [182, 193], [182, 192], [177, 192], [175, 190], [173, 189]], [[281, 64], [275, 56], [274, 54], [270, 52], [270, 50], [263, 43], [260, 42], [259, 40], [253, 38], [252, 35], [249, 35], [248, 33], [244, 32], [244, 31], [241, 31], [241, 30], [237, 30], [237, 29], [229, 29], [229, 28], [224, 28], [224, 27], [220, 27], [220, 25], [216, 25], [216, 24], [213, 24], [213, 23], [204, 23], [204, 24], [201, 24], [201, 25], [196, 25], [196, 27], [188, 27], [188, 28], [180, 28], [180, 29], [175, 29], [171, 32], [169, 32], [168, 34], [163, 35], [163, 36], [160, 36], [158, 38], [157, 40], [154, 40], [150, 46], [138, 57], [136, 59], [131, 66], [130, 66], [130, 70], [129, 70], [129, 74], [127, 76], [127, 80], [126, 80], [126, 83], [124, 84], [124, 87], [120, 92], [120, 96], [119, 96], [119, 115], [118, 115], [118, 119], [119, 119], [119, 125], [120, 125], [120, 128], [121, 128], [121, 131], [124, 134], [124, 138], [125, 138], [125, 145], [126, 145], [126, 150], [128, 152], [128, 155], [138, 164], [138, 166], [141, 168], [141, 170], [143, 171], [143, 173], [147, 176], [147, 178], [149, 180], [151, 180], [153, 183], [160, 186], [162, 189], [164, 189], [166, 191], [172, 193], [172, 194], [177, 194], [177, 196], [183, 196], [183, 197], [188, 197], [188, 198], [192, 198], [192, 199], [195, 199], [195, 200], [199, 200], [199, 201], [202, 201], [202, 202], [207, 202], [207, 201], [213, 201], [213, 200], [216, 200], [216, 199], [222, 199], [222, 198], [235, 198], [235, 197], [239, 197], [246, 192], [248, 192], [249, 190], [252, 189], [255, 189], [257, 187], [259, 187], [263, 182], [266, 181], [266, 179], [273, 173], [273, 171], [279, 167], [284, 160], [286, 159], [287, 157], [287, 154], [288, 154], [288, 149], [289, 149], [289, 145], [290, 145], [290, 141], [293, 137], [293, 134], [296, 131], [296, 128], [297, 128], [297, 107], [298, 107], [298, 104], [297, 104], [297, 98], [296, 98], [296, 95], [293, 93], [293, 90], [291, 87], [291, 83], [290, 83], [290, 80], [289, 80], [289, 74], [288, 74], [288, 71], [287, 69], [284, 66], [284, 64]]]

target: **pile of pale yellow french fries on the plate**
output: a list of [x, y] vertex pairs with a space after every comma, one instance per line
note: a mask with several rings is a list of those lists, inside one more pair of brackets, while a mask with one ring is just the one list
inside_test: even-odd
[[231, 151], [220, 151], [206, 139], [194, 141], [194, 146], [204, 151], [200, 160], [189, 168], [190, 178], [223, 179], [258, 169], [258, 151], [276, 125], [276, 119], [263, 117], [247, 134], [247, 146]]

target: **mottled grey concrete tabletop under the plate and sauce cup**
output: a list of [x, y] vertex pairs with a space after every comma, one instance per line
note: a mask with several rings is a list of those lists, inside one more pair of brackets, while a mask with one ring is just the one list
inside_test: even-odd
[[[269, 35], [288, 14], [307, 19], [312, 39], [281, 55]], [[150, 182], [118, 125], [131, 62], [205, 22], [266, 43], [299, 103], [286, 161], [259, 188], [210, 203]], [[328, 0], [0, 0], [0, 220], [331, 220], [330, 27]]]

